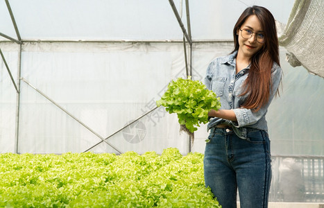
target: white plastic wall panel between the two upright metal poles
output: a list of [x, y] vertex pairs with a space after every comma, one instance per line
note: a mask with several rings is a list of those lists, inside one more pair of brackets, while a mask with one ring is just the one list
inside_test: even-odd
[[[68, 51], [65, 49], [67, 45]], [[21, 76], [26, 82], [21, 83], [19, 122], [24, 124], [19, 126], [19, 137], [25, 139], [19, 140], [20, 153], [82, 152], [101, 141], [33, 87], [40, 89], [94, 132], [107, 137], [130, 120], [151, 110], [159, 92], [169, 80], [178, 73], [182, 75], [183, 70], [175, 66], [183, 68], [184, 65], [182, 45], [177, 48], [175, 44], [121, 43], [97, 46], [96, 43], [33, 43], [24, 44], [23, 50]], [[9, 89], [12, 89], [10, 85]], [[164, 114], [164, 111], [161, 112]], [[165, 116], [164, 119], [170, 120], [172, 117]], [[10, 120], [14, 122], [15, 116]], [[172, 125], [175, 122], [173, 119], [169, 121], [171, 126], [176, 126]], [[154, 128], [156, 123], [154, 120], [146, 123], [143, 131]], [[185, 141], [181, 141], [181, 137], [174, 141], [164, 139], [173, 132], [164, 131], [164, 128], [155, 128], [155, 137], [146, 130], [146, 135], [142, 135], [142, 139], [145, 137], [148, 141], [144, 145], [146, 148], [143, 142], [128, 143], [127, 139], [123, 139], [122, 135], [127, 132], [117, 135], [121, 138], [110, 140], [118, 144], [122, 152], [137, 150], [140, 153], [150, 148], [159, 150], [162, 144], [170, 141], [171, 145], [180, 142], [177, 146], [183, 146], [185, 149], [182, 148], [182, 153], [185, 153], [186, 145], [182, 144]], [[178, 135], [178, 129], [175, 129]], [[106, 146], [104, 144], [102, 149], [94, 151], [111, 151]]]

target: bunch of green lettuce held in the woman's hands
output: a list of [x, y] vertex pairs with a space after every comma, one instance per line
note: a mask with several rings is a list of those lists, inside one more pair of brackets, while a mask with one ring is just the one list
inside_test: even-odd
[[221, 103], [216, 94], [205, 88], [200, 81], [178, 78], [168, 85], [157, 106], [166, 107], [167, 112], [178, 114], [180, 125], [185, 125], [189, 132], [197, 130], [200, 123], [208, 122], [208, 112], [219, 110]]

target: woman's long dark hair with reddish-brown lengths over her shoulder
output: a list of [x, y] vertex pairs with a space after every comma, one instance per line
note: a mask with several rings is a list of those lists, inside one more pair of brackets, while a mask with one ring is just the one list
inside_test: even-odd
[[[257, 51], [250, 60], [248, 78], [246, 78], [244, 92], [241, 95], [249, 93], [242, 107], [258, 111], [263, 105], [268, 103], [271, 94], [271, 68], [273, 67], [273, 62], [280, 65], [279, 44], [275, 19], [271, 12], [262, 6], [253, 6], [246, 8], [235, 24], [233, 29], [234, 51], [239, 49], [237, 31], [250, 15], [256, 15], [257, 19], [261, 22], [265, 42], [262, 49]], [[278, 90], [276, 93], [279, 93]]]

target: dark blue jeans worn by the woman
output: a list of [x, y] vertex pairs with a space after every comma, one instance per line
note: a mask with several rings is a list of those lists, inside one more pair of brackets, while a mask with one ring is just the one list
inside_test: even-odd
[[248, 129], [240, 139], [231, 128], [212, 128], [204, 157], [205, 185], [223, 208], [268, 207], [270, 140], [264, 130]]

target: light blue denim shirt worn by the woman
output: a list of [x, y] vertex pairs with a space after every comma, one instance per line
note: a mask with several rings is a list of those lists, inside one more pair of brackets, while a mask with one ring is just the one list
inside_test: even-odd
[[207, 67], [205, 85], [207, 89], [215, 92], [216, 96], [220, 98], [221, 109], [232, 109], [234, 111], [237, 122], [214, 118], [208, 123], [207, 131], [220, 123], [226, 123], [232, 127], [238, 137], [246, 139], [246, 135], [251, 129], [268, 131], [266, 112], [280, 84], [282, 69], [277, 63], [273, 62], [271, 69], [272, 89], [268, 103], [255, 112], [241, 107], [248, 96], [248, 94], [244, 96], [240, 96], [240, 94], [243, 92], [242, 85], [248, 77], [250, 65], [236, 73], [236, 56], [237, 51], [213, 60]]

